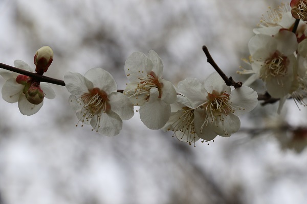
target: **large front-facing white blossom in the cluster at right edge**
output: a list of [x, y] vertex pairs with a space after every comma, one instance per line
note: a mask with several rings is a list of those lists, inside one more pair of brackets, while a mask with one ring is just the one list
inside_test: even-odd
[[258, 34], [249, 41], [252, 69], [256, 78], [266, 83], [272, 97], [291, 93], [297, 72], [294, 56], [297, 46], [296, 35], [290, 31], [280, 31], [274, 36]]

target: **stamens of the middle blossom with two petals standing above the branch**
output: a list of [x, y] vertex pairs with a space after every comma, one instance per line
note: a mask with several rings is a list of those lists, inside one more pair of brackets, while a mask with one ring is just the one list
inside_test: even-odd
[[[132, 94], [129, 97], [142, 97], [146, 101], [149, 100], [150, 96], [150, 89], [151, 88], [157, 88], [159, 91], [159, 98], [161, 98], [162, 95], [162, 87], [163, 84], [159, 82], [159, 79], [157, 78], [157, 75], [155, 72], [151, 71], [150, 74], [147, 74], [144, 78], [140, 79], [141, 82], [138, 83], [137, 88], [134, 90], [134, 94]], [[138, 104], [136, 104], [138, 106]]]

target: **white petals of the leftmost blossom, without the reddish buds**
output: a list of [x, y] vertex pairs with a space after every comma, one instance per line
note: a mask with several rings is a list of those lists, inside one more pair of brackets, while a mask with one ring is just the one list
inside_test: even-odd
[[[15, 60], [14, 65], [19, 69], [33, 72], [33, 69], [24, 61]], [[25, 96], [25, 93], [29, 88], [29, 84], [24, 85], [16, 82], [16, 78], [21, 74], [0, 69], [0, 75], [7, 80], [2, 87], [2, 97], [5, 101], [9, 103], [16, 103], [18, 101], [20, 113], [24, 115], [33, 115], [39, 111], [43, 105], [43, 101], [38, 105], [30, 103]], [[46, 98], [53, 99], [55, 97], [54, 91], [48, 84], [40, 82], [39, 86]]]

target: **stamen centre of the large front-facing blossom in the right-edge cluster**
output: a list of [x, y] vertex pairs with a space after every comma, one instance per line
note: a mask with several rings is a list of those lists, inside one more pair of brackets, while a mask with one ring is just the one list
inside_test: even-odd
[[260, 69], [260, 78], [266, 81], [268, 77], [283, 77], [287, 75], [288, 58], [275, 52], [267, 59]]

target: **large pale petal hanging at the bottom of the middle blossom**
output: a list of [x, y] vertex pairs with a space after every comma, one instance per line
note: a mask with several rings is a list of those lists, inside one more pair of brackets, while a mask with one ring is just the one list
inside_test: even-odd
[[158, 98], [159, 92], [150, 90], [148, 103], [140, 107], [140, 118], [151, 130], [158, 130], [165, 125], [170, 116], [170, 105]]

